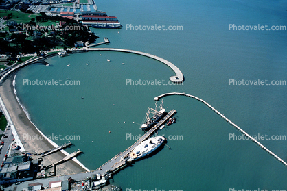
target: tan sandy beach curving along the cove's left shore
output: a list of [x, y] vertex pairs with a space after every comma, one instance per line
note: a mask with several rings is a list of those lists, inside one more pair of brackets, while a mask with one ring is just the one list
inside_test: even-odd
[[[36, 129], [36, 127], [30, 122], [27, 118], [25, 112], [23, 111], [21, 105], [19, 105], [16, 100], [16, 96], [14, 94], [12, 81], [14, 79], [15, 73], [12, 73], [5, 79], [3, 84], [0, 85], [0, 96], [5, 104], [8, 113], [10, 114], [10, 118], [16, 128], [18, 136], [23, 143], [26, 151], [36, 151], [37, 153], [41, 153], [43, 151], [47, 151], [49, 149], [54, 148], [47, 140], [24, 140], [23, 135], [28, 134], [30, 136], [41, 136], [41, 133]], [[49, 165], [62, 160], [66, 155], [57, 152], [46, 157], [43, 157], [43, 164]], [[86, 170], [82, 168], [79, 164], [70, 160], [63, 164], [56, 166], [57, 175], [68, 175], [71, 173], [80, 173], [85, 172]]]

